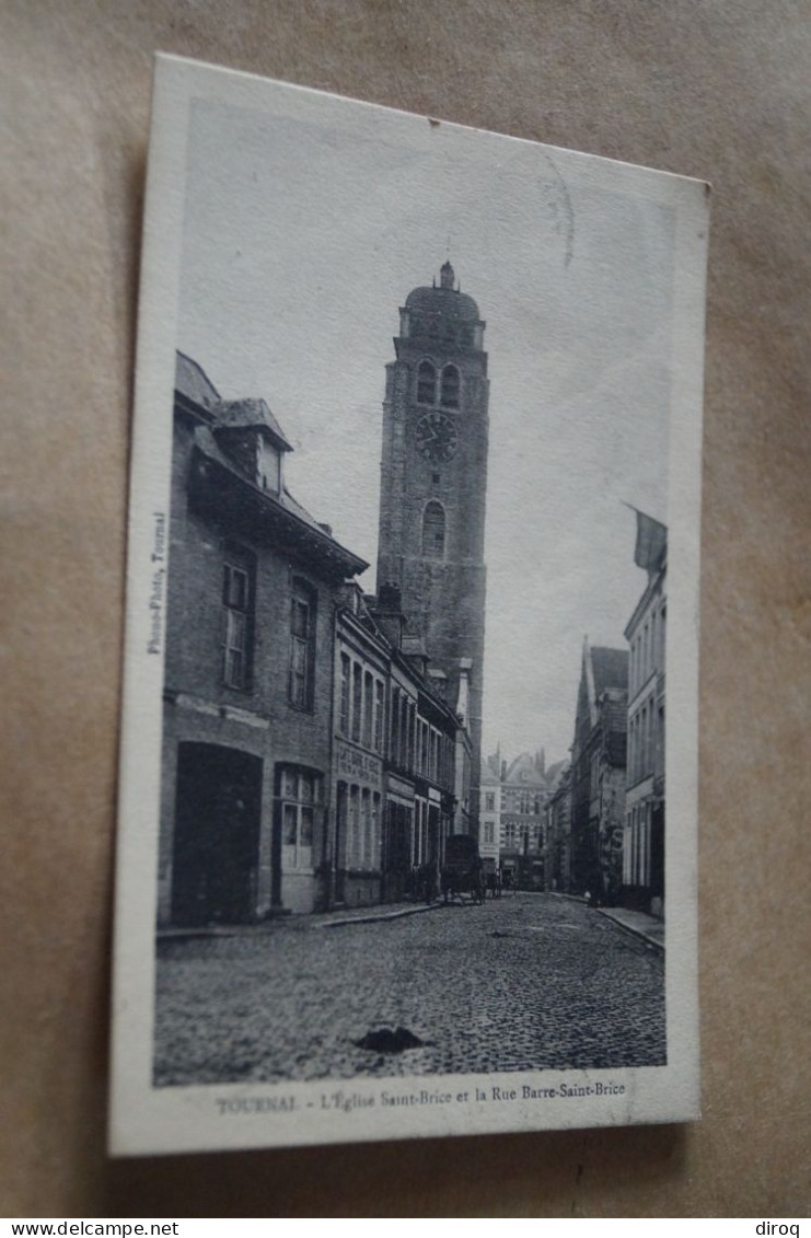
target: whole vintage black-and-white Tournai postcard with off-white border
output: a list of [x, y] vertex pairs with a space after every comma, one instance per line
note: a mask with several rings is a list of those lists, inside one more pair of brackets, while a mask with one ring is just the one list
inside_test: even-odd
[[698, 1115], [707, 222], [158, 57], [114, 1153]]

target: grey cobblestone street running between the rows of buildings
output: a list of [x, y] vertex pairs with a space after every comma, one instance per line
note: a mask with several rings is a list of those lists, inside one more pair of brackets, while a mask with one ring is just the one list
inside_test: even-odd
[[[381, 1028], [422, 1045], [358, 1046]], [[664, 959], [555, 895], [158, 947], [157, 1084], [664, 1062]]]

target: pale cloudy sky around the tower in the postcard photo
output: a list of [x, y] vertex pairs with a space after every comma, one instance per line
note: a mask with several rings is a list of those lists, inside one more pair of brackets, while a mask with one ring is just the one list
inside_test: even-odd
[[363, 111], [193, 104], [177, 345], [267, 401], [373, 592], [397, 311], [451, 259], [489, 354], [484, 750], [561, 760], [583, 636], [627, 647], [645, 586], [625, 504], [666, 519], [674, 213], [597, 160]]

